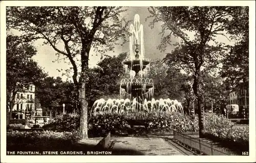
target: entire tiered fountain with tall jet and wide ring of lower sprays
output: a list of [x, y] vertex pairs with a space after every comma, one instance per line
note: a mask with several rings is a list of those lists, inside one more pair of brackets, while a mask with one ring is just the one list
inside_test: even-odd
[[96, 100], [92, 112], [94, 114], [129, 111], [183, 113], [182, 105], [177, 100], [153, 98], [154, 82], [153, 79], [148, 78], [150, 60], [144, 57], [143, 26], [140, 24], [138, 14], [134, 17], [134, 25], [130, 26], [130, 33], [130, 56], [123, 62], [126, 78], [120, 83], [120, 99]]

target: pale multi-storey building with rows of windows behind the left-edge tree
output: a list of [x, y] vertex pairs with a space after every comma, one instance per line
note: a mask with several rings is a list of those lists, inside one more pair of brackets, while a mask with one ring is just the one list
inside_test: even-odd
[[32, 119], [35, 115], [35, 86], [30, 84], [24, 92], [17, 92], [13, 106], [13, 118]]

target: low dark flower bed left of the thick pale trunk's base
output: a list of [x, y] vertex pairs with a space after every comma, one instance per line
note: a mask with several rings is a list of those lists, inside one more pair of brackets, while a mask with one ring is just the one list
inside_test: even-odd
[[46, 151], [69, 148], [78, 141], [78, 132], [11, 131], [7, 132], [8, 151]]

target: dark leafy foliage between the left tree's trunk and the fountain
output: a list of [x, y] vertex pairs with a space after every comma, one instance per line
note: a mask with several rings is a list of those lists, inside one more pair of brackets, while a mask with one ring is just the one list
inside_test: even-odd
[[119, 82], [123, 77], [122, 61], [127, 53], [120, 53], [118, 56], [105, 57], [100, 60], [97, 67], [89, 69], [87, 79], [87, 100], [89, 106], [100, 98], [119, 98]]

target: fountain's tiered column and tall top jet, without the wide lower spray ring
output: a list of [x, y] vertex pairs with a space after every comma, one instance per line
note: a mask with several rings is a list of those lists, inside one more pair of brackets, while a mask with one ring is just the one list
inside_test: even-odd
[[[144, 58], [143, 26], [140, 24], [138, 14], [134, 17], [134, 25], [130, 26], [130, 57], [124, 62], [125, 74], [129, 78], [124, 78], [120, 84], [121, 98], [142, 103], [144, 99], [151, 100], [154, 94], [154, 83], [148, 78], [150, 61]], [[135, 72], [133, 76], [132, 71]]]

